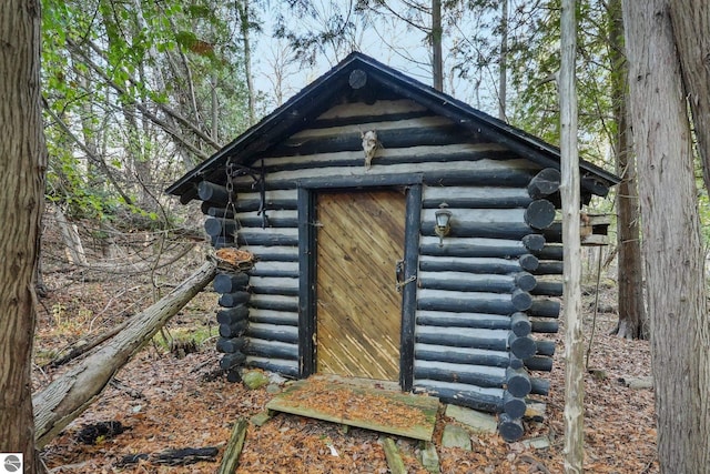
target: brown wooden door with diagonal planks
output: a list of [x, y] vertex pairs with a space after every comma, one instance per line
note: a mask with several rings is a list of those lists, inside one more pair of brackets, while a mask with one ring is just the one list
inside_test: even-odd
[[398, 381], [405, 195], [321, 193], [317, 215], [317, 372]]

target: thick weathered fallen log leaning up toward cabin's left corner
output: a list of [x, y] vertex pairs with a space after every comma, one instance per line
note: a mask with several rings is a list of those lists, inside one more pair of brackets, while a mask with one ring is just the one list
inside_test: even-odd
[[205, 262], [187, 280], [158, 303], [134, 315], [131, 323], [93, 353], [32, 396], [34, 441], [42, 448], [101, 394], [113, 375], [148, 343], [216, 273]]

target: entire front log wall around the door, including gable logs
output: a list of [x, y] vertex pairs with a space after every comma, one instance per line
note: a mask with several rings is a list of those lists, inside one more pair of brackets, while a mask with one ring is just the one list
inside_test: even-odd
[[[231, 209], [223, 184], [207, 183], [201, 192], [213, 245], [236, 244], [257, 258], [250, 271], [246, 363], [298, 375], [298, 189], [417, 182], [424, 195], [415, 385], [519, 420], [525, 396], [511, 400], [507, 387], [514, 383], [518, 395], [527, 385], [530, 393], [544, 391], [535, 376], [520, 381], [551, 367], [550, 349], [540, 353], [531, 333], [551, 331], [539, 321], [559, 312], [548, 297], [557, 288], [534, 288], [538, 275], [561, 272], [555, 239], [546, 240], [555, 233], [547, 229], [555, 205], [545, 198], [545, 182], [541, 193], [528, 190], [540, 168], [408, 100], [344, 103], [311, 125], [253, 163], [265, 172], [263, 183], [234, 178]], [[379, 140], [371, 168], [361, 137], [368, 130]], [[439, 246], [434, 213], [442, 202], [454, 218]], [[527, 316], [530, 334], [519, 329], [526, 321], [514, 332], [514, 314]]]

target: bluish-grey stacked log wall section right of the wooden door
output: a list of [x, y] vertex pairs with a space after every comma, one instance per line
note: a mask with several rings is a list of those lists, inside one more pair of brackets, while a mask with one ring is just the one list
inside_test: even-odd
[[[443, 203], [452, 230], [440, 242], [434, 229]], [[505, 414], [500, 431], [509, 438], [521, 434], [528, 396], [549, 389], [539, 372], [552, 367], [554, 343], [544, 336], [557, 332], [559, 303], [549, 296], [561, 295], [561, 283], [549, 275], [561, 268], [537, 270], [561, 259], [547, 241], [560, 240], [549, 229], [555, 208], [526, 186], [423, 190], [414, 385]]]

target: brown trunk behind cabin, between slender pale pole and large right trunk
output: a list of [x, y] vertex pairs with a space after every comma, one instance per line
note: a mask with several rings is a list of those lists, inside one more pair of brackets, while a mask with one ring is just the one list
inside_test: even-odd
[[615, 333], [627, 339], [648, 339], [648, 316], [643, 302], [643, 271], [639, 230], [639, 194], [636, 180], [636, 157], [631, 152], [631, 131], [627, 110], [628, 64], [623, 53], [623, 18], [621, 0], [609, 2], [609, 58], [613, 117], [617, 124], [613, 137], [617, 174], [617, 249], [619, 323]]

